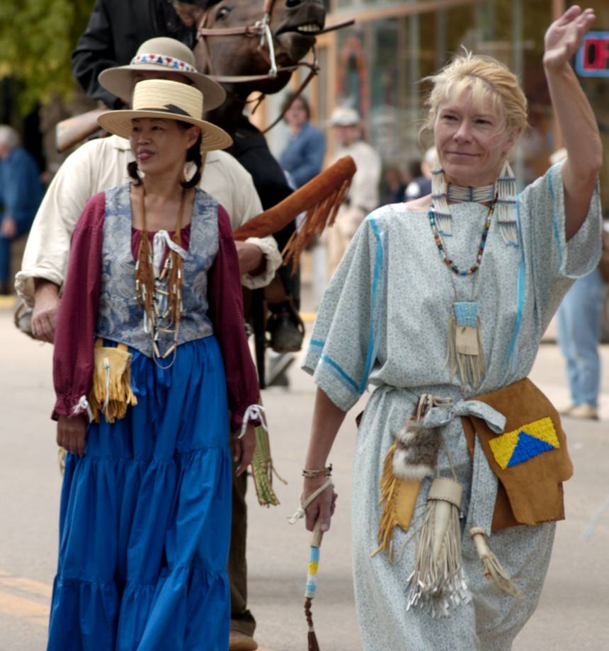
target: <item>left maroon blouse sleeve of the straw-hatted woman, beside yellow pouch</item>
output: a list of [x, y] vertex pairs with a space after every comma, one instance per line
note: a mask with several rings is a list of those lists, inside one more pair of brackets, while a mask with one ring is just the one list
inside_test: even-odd
[[70, 416], [93, 378], [93, 336], [101, 286], [101, 247], [106, 197], [91, 197], [76, 224], [62, 294], [55, 350], [53, 384], [57, 401], [52, 419]]

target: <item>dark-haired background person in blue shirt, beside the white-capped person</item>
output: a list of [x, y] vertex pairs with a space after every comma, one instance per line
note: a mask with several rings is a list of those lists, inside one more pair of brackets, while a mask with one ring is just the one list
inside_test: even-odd
[[290, 127], [290, 138], [279, 156], [279, 164], [290, 175], [295, 188], [300, 188], [321, 172], [326, 155], [326, 139], [309, 122], [311, 109], [302, 95], [289, 93], [282, 110], [283, 119]]

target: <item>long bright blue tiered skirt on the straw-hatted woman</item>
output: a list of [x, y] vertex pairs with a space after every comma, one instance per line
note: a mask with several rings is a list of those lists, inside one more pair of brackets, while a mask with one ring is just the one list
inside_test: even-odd
[[229, 413], [217, 340], [133, 352], [137, 406], [68, 454], [52, 651], [226, 651]]

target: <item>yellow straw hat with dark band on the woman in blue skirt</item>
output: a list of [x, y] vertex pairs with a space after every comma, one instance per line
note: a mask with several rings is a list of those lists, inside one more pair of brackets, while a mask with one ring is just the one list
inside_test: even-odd
[[146, 79], [135, 84], [133, 108], [106, 111], [98, 124], [123, 138], [129, 138], [136, 117], [159, 117], [164, 120], [188, 122], [201, 129], [201, 150], [224, 149], [232, 144], [232, 138], [216, 125], [202, 119], [203, 94], [198, 88], [179, 81]]

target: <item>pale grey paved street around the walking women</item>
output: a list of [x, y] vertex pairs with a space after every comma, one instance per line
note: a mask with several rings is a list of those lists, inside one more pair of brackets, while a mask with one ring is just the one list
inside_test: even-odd
[[[0, 651], [38, 651], [45, 647], [57, 554], [60, 478], [49, 420], [52, 350], [18, 333], [6, 307], [0, 308], [0, 341]], [[609, 649], [609, 508], [591, 538], [580, 539], [609, 494], [608, 346], [603, 362], [604, 420], [565, 422], [575, 464], [575, 476], [566, 485], [567, 521], [559, 524], [540, 607], [516, 641], [516, 651]], [[568, 402], [555, 345], [542, 346], [532, 377], [555, 404]], [[304, 651], [307, 638], [302, 592], [309, 537], [302, 524], [289, 526], [285, 519], [297, 506], [314, 387], [297, 364], [290, 379], [290, 391], [273, 388], [263, 396], [275, 465], [290, 483], [275, 482], [282, 503], [273, 509], [258, 507], [253, 490], [249, 495], [250, 606], [258, 618], [256, 638], [267, 651]], [[319, 597], [313, 604], [324, 651], [361, 648], [350, 567], [354, 439], [349, 415], [331, 455], [338, 511], [321, 549]]]

